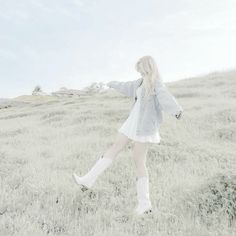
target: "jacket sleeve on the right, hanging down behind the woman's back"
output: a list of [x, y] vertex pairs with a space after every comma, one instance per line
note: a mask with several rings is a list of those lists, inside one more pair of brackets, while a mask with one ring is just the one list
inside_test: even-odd
[[160, 88], [157, 89], [156, 99], [160, 105], [161, 110], [172, 116], [178, 115], [180, 111], [183, 112], [182, 106], [169, 92], [165, 84], [162, 84]]

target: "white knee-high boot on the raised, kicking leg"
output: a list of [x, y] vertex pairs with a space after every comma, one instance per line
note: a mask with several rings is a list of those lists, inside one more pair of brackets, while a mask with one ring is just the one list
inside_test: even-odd
[[104, 158], [102, 155], [86, 175], [79, 177], [74, 173], [73, 178], [77, 184], [85, 187], [82, 188], [85, 191], [93, 186], [98, 176], [112, 164], [112, 161], [111, 158]]

